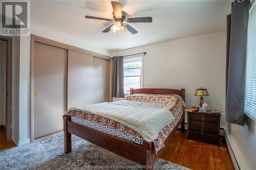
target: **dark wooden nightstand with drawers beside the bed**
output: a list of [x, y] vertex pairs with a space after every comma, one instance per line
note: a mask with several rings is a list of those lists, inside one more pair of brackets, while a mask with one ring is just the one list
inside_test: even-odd
[[220, 113], [187, 112], [187, 138], [220, 145]]

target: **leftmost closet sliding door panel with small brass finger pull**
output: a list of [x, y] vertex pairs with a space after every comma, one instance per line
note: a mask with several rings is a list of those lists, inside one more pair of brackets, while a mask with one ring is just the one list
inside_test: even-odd
[[34, 44], [34, 138], [63, 130], [67, 110], [68, 50]]

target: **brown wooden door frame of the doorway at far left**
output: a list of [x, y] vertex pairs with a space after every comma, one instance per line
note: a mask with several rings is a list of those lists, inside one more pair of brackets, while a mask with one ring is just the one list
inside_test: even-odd
[[7, 42], [7, 77], [6, 77], [6, 140], [12, 139], [12, 38], [0, 36], [1, 40]]

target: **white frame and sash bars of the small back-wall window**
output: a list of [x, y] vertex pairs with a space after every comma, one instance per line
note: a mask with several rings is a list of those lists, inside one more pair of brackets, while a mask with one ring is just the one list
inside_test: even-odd
[[[137, 61], [141, 61], [141, 67], [134, 67], [134, 68], [140, 68], [140, 76], [123, 76], [123, 85], [124, 85], [124, 78], [125, 77], [140, 77], [140, 88], [143, 88], [143, 76], [144, 76], [144, 55], [136, 55], [136, 56], [127, 56], [127, 57], [123, 57], [123, 64], [124, 63], [130, 63], [130, 62], [135, 62], [137, 58], [141, 58], [140, 60]], [[125, 61], [125, 60], [131, 60], [131, 61]], [[130, 69], [130, 68], [128, 68]], [[132, 69], [132, 68], [131, 68]], [[130, 95], [130, 91], [129, 92], [125, 92], [124, 91], [124, 95]]]

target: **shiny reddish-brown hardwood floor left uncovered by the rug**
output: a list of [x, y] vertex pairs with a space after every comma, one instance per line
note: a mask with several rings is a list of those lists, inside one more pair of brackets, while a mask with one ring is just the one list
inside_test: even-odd
[[[12, 140], [6, 141], [3, 138], [5, 138], [5, 131], [1, 130], [0, 151], [16, 147]], [[213, 144], [187, 140], [186, 132], [182, 134], [178, 130], [171, 141], [160, 158], [195, 170], [234, 169], [226, 144], [222, 139], [221, 145], [218, 147]]]

